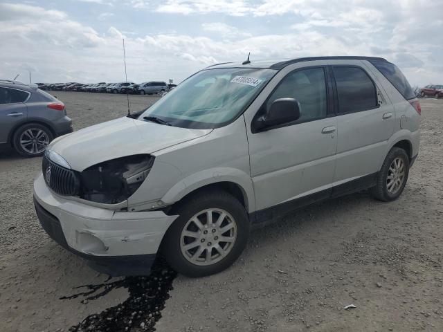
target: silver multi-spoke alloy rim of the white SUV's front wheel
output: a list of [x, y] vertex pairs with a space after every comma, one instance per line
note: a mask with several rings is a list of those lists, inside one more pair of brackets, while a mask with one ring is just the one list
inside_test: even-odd
[[180, 235], [180, 249], [191, 264], [209, 266], [224, 259], [237, 238], [237, 223], [221, 209], [198, 212], [186, 223]]

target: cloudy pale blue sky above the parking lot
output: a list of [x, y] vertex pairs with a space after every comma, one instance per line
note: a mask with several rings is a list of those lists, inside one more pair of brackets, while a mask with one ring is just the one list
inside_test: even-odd
[[443, 84], [443, 0], [0, 0], [0, 78], [174, 80], [217, 62], [385, 57]]

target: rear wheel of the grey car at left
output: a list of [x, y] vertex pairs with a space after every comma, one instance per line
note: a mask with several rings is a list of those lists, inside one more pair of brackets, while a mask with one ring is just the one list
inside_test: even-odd
[[37, 157], [44, 154], [53, 138], [53, 133], [48, 127], [38, 123], [28, 123], [15, 131], [12, 145], [21, 156]]

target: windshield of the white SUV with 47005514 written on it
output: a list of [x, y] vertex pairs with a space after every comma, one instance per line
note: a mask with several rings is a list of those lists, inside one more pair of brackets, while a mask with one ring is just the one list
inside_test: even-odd
[[273, 69], [220, 68], [200, 71], [182, 82], [140, 116], [174, 127], [213, 129], [235, 120], [262, 91]]

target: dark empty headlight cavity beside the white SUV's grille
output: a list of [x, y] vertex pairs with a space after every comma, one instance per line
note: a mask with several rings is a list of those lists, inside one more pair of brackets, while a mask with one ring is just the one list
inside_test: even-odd
[[80, 198], [105, 204], [125, 201], [149, 174], [154, 157], [137, 154], [108, 160], [80, 173]]

